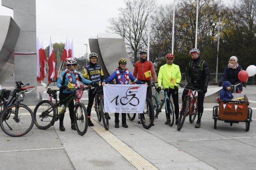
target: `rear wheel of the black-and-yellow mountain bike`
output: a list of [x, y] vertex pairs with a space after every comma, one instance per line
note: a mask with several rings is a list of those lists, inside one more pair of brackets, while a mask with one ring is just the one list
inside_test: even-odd
[[51, 127], [55, 122], [56, 107], [50, 100], [42, 100], [35, 106], [34, 117], [35, 126], [45, 130]]

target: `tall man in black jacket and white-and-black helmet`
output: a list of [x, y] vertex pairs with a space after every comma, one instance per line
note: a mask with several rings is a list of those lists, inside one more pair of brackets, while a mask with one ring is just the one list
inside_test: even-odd
[[[196, 128], [200, 128], [201, 117], [204, 111], [204, 95], [207, 92], [210, 79], [209, 67], [206, 61], [200, 59], [200, 51], [198, 49], [191, 49], [189, 53], [191, 54], [192, 60], [186, 67], [187, 86], [202, 90], [202, 92], [198, 92], [198, 118], [195, 125]], [[187, 95], [187, 92], [187, 88], [184, 89], [182, 101]]]

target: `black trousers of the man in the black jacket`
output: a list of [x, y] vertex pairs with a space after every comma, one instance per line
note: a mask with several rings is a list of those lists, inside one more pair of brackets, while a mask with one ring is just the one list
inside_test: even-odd
[[[200, 84], [193, 83], [193, 87], [196, 89], [202, 90], [204, 88], [204, 83], [200, 83]], [[184, 91], [182, 93], [182, 101], [184, 101], [184, 98], [187, 95], [187, 92], [188, 92], [187, 89], [189, 89], [189, 87], [186, 86], [186, 89], [184, 89]], [[197, 120], [198, 121], [201, 121], [201, 117], [204, 112], [204, 95], [205, 95], [205, 93], [203, 93], [203, 92], [198, 92], [198, 95], [197, 95], [198, 96], [198, 98], [197, 98], [197, 102], [198, 102], [198, 115], [197, 115], [198, 118], [197, 118]]]

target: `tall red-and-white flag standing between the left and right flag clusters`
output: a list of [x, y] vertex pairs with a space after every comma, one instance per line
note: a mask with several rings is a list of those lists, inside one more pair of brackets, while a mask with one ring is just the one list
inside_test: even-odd
[[56, 59], [54, 54], [54, 49], [52, 46], [52, 39], [50, 38], [49, 46], [49, 61], [48, 61], [48, 83], [52, 83], [52, 79], [57, 80], [57, 69], [56, 69]]

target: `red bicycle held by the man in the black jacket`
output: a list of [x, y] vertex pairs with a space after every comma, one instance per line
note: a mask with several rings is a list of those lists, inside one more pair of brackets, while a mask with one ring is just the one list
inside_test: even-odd
[[[183, 84], [180, 84], [180, 83], [177, 83], [177, 84], [180, 85], [180, 87], [186, 88], [186, 86]], [[194, 90], [187, 89], [188, 90], [187, 95], [185, 96], [180, 109], [180, 116], [179, 116], [177, 130], [180, 130], [182, 128], [187, 115], [189, 115], [189, 122], [193, 123], [198, 114], [198, 102], [197, 102], [198, 99], [197, 99], [196, 93], [202, 92], [202, 90], [196, 89], [193, 87], [189, 87], [189, 88]]]

